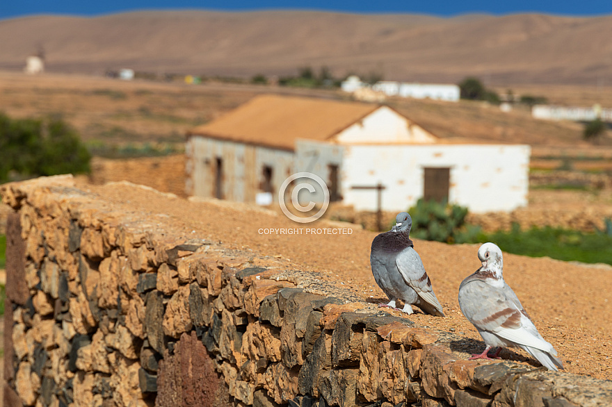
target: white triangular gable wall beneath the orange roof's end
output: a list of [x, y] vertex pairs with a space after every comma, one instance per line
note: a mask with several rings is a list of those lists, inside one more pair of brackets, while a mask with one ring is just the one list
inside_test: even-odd
[[341, 144], [430, 143], [437, 138], [387, 106], [380, 107], [334, 137]]

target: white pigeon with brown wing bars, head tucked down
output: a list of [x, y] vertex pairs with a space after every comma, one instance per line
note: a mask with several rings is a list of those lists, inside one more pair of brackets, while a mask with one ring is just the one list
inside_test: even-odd
[[470, 359], [490, 359], [487, 352], [492, 347], [499, 347], [494, 358], [501, 347], [519, 347], [547, 369], [563, 369], [561, 360], [555, 357], [555, 349], [542, 338], [521, 301], [504, 281], [499, 247], [493, 243], [483, 244], [478, 249], [478, 258], [483, 267], [459, 286], [461, 312], [476, 326], [487, 345], [482, 354], [474, 354]]

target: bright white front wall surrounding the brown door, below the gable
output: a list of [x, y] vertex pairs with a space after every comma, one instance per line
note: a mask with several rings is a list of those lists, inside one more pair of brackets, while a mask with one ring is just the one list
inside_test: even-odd
[[424, 167], [450, 167], [449, 201], [474, 213], [526, 206], [529, 146], [441, 144], [351, 146], [344, 150], [342, 194], [357, 210], [375, 210], [374, 191], [353, 185], [383, 183], [384, 210], [400, 211], [424, 192]]

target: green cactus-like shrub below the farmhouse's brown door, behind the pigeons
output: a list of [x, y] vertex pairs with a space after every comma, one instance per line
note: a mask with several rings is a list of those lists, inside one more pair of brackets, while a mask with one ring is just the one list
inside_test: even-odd
[[436, 242], [478, 242], [481, 228], [465, 223], [467, 212], [463, 206], [419, 199], [415, 206], [408, 209], [412, 217], [410, 235]]

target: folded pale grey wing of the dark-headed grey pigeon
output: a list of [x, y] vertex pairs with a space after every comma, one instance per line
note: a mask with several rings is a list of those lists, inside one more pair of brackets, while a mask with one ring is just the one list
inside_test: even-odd
[[410, 285], [421, 299], [433, 306], [444, 316], [442, 304], [435, 297], [431, 281], [425, 271], [421, 256], [419, 256], [417, 251], [412, 249], [412, 247], [402, 250], [398, 254], [395, 264], [406, 284]]

